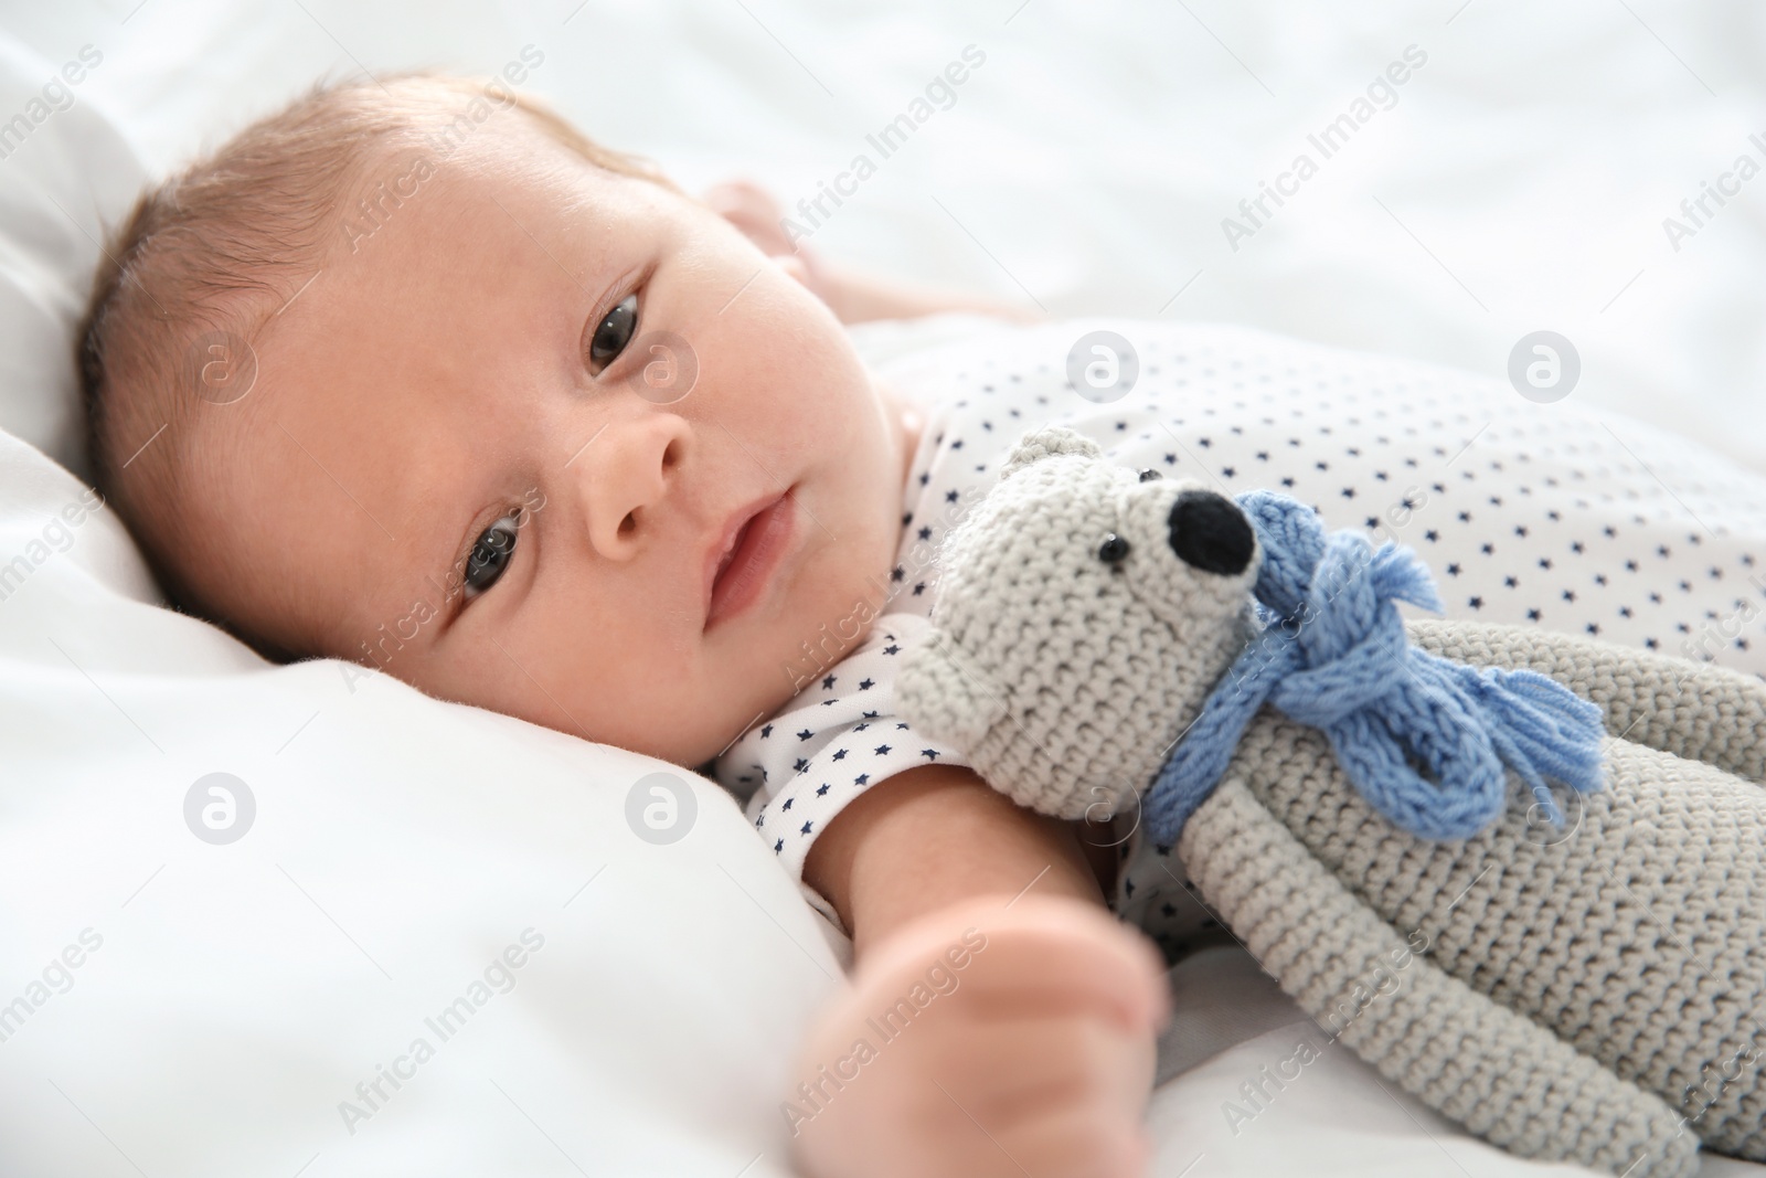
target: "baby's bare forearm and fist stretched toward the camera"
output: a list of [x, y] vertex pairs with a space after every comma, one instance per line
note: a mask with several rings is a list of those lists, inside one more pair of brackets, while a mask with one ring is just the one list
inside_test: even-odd
[[[1141, 1111], [1166, 1017], [1150, 945], [1102, 910], [1072, 823], [1015, 807], [961, 766], [878, 782], [811, 848], [805, 881], [853, 931], [853, 989], [812, 1030], [800, 1159], [858, 1174], [1139, 1174]], [[883, 1040], [927, 971], [954, 989]], [[922, 985], [922, 996], [927, 993]], [[858, 1040], [876, 1047], [849, 1063]], [[851, 1076], [834, 1088], [837, 1061]], [[802, 1091], [802, 1090], [800, 1090]]]

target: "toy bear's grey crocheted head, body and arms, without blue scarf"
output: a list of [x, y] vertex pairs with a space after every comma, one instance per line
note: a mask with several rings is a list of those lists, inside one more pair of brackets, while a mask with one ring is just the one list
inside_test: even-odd
[[[1256, 565], [1174, 556], [1183, 489], [1028, 434], [947, 539], [904, 719], [1024, 805], [1132, 807], [1249, 616]], [[1607, 788], [1559, 793], [1554, 830], [1512, 779], [1489, 830], [1416, 839], [1264, 710], [1180, 839], [1203, 897], [1321, 1026], [1492, 1143], [1632, 1178], [1695, 1173], [1699, 1139], [1766, 1160], [1766, 685], [1538, 631], [1411, 632], [1598, 703]]]

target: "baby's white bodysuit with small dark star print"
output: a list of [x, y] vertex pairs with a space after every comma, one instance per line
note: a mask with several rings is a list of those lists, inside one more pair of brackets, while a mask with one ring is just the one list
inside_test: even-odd
[[[1068, 351], [1097, 328], [1137, 353], [1136, 383], [1109, 403], [1067, 380]], [[828, 620], [826, 641], [805, 643], [793, 669], [798, 694], [715, 761], [798, 880], [816, 835], [858, 793], [913, 765], [968, 765], [892, 715], [892, 668], [927, 627], [940, 540], [992, 486], [1010, 445], [1047, 422], [1123, 464], [1226, 495], [1286, 491], [1330, 528], [1409, 546], [1446, 616], [1766, 673], [1766, 477], [1574, 397], [1536, 404], [1499, 374], [1132, 320], [982, 330], [874, 367], [925, 410], [890, 600], [837, 662], [823, 653], [839, 650], [832, 634], [857, 629]], [[1176, 855], [1132, 844], [1116, 911], [1171, 955], [1219, 936]]]

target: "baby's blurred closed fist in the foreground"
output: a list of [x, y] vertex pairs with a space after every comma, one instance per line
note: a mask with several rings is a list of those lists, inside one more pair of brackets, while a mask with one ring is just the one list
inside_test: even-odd
[[1160, 963], [1090, 904], [1007, 899], [904, 925], [818, 1021], [786, 1106], [807, 1173], [1143, 1173]]

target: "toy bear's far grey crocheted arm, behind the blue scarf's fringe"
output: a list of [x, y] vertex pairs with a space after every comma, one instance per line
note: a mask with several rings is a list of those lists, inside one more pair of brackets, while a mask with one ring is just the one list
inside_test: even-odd
[[1614, 736], [1766, 781], [1766, 683], [1750, 675], [1531, 627], [1423, 618], [1408, 629], [1429, 653], [1549, 675], [1598, 703]]

